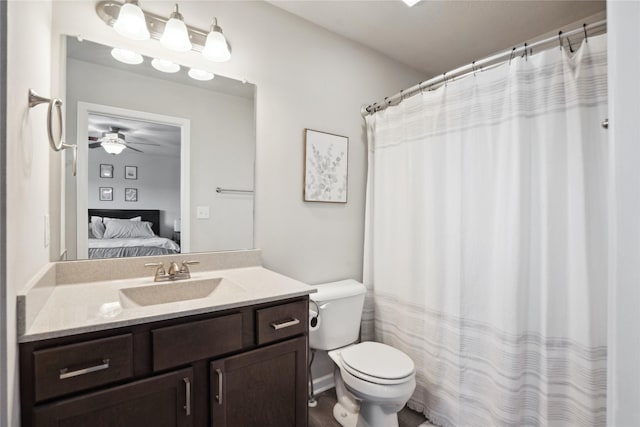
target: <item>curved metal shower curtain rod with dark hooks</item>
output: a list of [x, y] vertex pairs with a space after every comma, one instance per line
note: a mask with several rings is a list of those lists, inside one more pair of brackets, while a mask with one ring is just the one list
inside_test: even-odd
[[[587, 35], [587, 31], [596, 32], [597, 30], [600, 30], [600, 29], [606, 30], [606, 25], [607, 25], [606, 19], [602, 21], [594, 22], [591, 24], [583, 24], [581, 27], [571, 31], [567, 31], [566, 33], [560, 31], [557, 36], [548, 37], [546, 39], [539, 40], [532, 44], [525, 43], [523, 46], [514, 47], [511, 50], [507, 50], [502, 53], [489, 56], [479, 61], [474, 61], [471, 64], [463, 65], [462, 67], [455, 68], [454, 70], [443, 73], [439, 76], [426, 80], [415, 86], [411, 86], [408, 89], [401, 90], [400, 92], [394, 95], [386, 97], [384, 101], [382, 101], [381, 103], [374, 102], [373, 104], [363, 105], [360, 110], [360, 113], [362, 114], [363, 117], [367, 116], [368, 114], [377, 113], [378, 111], [382, 111], [391, 105], [399, 104], [405, 98], [416, 95], [424, 91], [425, 89], [429, 90], [436, 85], [439, 85], [442, 83], [446, 84], [447, 82], [460, 79], [467, 75], [475, 74], [476, 72], [480, 72], [480, 71], [485, 71], [497, 65], [503, 64], [508, 60], [510, 61], [512, 58], [515, 58], [518, 55], [522, 55], [522, 56], [532, 55], [533, 48], [538, 48], [540, 46], [551, 44], [551, 43], [559, 43], [560, 48], [562, 48], [563, 38], [567, 39], [569, 48], [572, 49], [571, 40], [569, 40], [569, 37], [574, 36], [576, 34], [583, 35], [583, 38], [586, 39], [588, 42], [589, 36]], [[597, 33], [597, 34], [600, 34], [600, 33]], [[597, 34], [592, 33], [591, 35], [593, 36]]]

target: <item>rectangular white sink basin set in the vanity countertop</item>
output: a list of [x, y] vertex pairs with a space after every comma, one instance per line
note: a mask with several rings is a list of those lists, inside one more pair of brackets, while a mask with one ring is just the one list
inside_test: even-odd
[[120, 289], [123, 308], [144, 307], [207, 298], [210, 301], [246, 293], [245, 289], [224, 279], [163, 282], [149, 286]]

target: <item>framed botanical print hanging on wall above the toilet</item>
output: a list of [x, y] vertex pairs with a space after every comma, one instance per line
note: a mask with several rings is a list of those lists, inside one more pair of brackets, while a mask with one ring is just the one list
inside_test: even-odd
[[304, 201], [347, 203], [349, 138], [305, 129]]

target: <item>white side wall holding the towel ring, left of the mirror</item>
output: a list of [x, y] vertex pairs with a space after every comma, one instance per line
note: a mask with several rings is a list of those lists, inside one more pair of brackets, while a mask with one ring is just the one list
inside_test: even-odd
[[[0, 421], [18, 425], [16, 292], [50, 257], [44, 245], [44, 218], [50, 213], [50, 157], [46, 105], [27, 106], [33, 88], [52, 95], [52, 6], [50, 1], [11, 1], [7, 26], [7, 383], [6, 414]], [[54, 157], [55, 156], [55, 157]], [[59, 181], [58, 181], [59, 182]], [[59, 191], [59, 187], [58, 187]], [[53, 196], [55, 197], [55, 196]]]

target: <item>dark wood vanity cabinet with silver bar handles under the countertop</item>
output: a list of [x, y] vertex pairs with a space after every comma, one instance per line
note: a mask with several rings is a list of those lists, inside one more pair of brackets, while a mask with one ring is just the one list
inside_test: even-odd
[[308, 298], [20, 344], [23, 426], [307, 425]]

